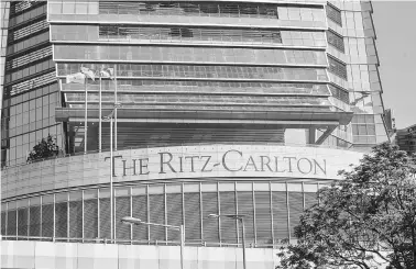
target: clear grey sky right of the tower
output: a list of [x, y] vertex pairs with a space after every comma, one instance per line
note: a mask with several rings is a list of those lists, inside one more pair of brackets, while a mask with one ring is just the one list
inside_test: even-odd
[[404, 128], [416, 124], [416, 1], [372, 3], [384, 109]]

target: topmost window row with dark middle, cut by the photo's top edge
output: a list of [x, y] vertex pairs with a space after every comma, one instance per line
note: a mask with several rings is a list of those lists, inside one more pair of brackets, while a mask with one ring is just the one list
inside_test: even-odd
[[[75, 1], [54, 0], [48, 3], [48, 13], [76, 15], [178, 15], [211, 18], [253, 18], [270, 20], [325, 22], [320, 5], [289, 7], [276, 3], [226, 2], [226, 1]], [[51, 16], [52, 18], [52, 16]], [[103, 18], [102, 20], [106, 20]]]

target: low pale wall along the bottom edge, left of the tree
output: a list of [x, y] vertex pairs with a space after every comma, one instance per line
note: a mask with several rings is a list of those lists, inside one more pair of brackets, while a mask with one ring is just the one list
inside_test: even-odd
[[[1, 242], [1, 268], [179, 269], [179, 247]], [[247, 249], [248, 269], [277, 266], [277, 249]], [[241, 248], [185, 247], [185, 268], [242, 268]]]

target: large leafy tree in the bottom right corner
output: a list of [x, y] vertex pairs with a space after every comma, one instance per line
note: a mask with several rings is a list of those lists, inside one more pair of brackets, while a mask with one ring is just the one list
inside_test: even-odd
[[415, 172], [416, 155], [375, 146], [359, 166], [340, 171], [344, 180], [318, 191], [277, 268], [416, 269]]

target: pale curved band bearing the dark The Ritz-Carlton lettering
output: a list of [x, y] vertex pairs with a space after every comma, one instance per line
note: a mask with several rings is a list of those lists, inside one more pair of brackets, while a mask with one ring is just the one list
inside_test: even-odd
[[[333, 150], [346, 153], [328, 148], [225, 145], [122, 150], [114, 157], [112, 170], [114, 177], [129, 177], [130, 180], [195, 177], [337, 178], [338, 170], [347, 169], [359, 158], [341, 157]], [[357, 156], [357, 153], [353, 154]]]

